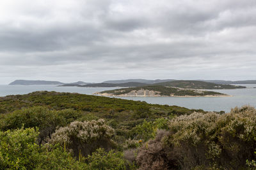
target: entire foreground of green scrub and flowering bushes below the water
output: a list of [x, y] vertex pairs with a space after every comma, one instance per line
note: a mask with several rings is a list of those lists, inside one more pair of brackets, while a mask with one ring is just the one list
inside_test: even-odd
[[0, 98], [0, 169], [255, 169], [256, 110], [33, 92]]

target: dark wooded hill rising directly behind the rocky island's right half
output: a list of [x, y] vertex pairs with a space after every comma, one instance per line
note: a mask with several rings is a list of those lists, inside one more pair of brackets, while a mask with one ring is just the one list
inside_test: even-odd
[[244, 89], [246, 87], [236, 85], [223, 85], [216, 83], [209, 83], [205, 81], [196, 80], [176, 80], [164, 83], [156, 83], [154, 85], [163, 85], [168, 87], [179, 87], [183, 89]]

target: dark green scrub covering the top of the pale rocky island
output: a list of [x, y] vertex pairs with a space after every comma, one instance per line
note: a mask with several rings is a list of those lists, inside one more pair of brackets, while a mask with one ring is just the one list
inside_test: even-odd
[[162, 85], [150, 85], [150, 86], [144, 86], [144, 87], [130, 87], [130, 88], [124, 88], [124, 89], [115, 89], [115, 90], [106, 90], [103, 92], [100, 92], [100, 94], [109, 94], [109, 95], [115, 95], [120, 96], [122, 94], [129, 94], [130, 92], [137, 92], [138, 90], [152, 90], [154, 92], [159, 92], [160, 96], [218, 96], [218, 95], [225, 95], [221, 94], [219, 92], [211, 92], [211, 91], [198, 91], [198, 90], [187, 90], [187, 89], [178, 89], [175, 87], [164, 87]]

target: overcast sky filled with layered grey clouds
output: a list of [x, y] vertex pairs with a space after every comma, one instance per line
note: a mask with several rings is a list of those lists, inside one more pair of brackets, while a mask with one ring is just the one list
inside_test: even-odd
[[255, 0], [0, 1], [0, 84], [256, 79]]

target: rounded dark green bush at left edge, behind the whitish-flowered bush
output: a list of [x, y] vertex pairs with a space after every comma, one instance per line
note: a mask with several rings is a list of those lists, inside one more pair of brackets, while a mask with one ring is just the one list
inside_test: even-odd
[[68, 109], [54, 111], [47, 107], [33, 107], [22, 110], [13, 111], [3, 115], [0, 119], [0, 128], [3, 131], [8, 129], [17, 129], [22, 126], [39, 127], [39, 144], [46, 143], [51, 138], [56, 127], [62, 127], [77, 118], [81, 117], [82, 113]]

